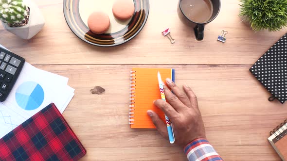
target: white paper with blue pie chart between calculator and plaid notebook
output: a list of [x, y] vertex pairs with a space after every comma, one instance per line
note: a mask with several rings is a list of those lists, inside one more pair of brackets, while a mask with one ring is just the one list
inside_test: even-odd
[[[37, 89], [37, 94], [34, 95], [36, 85], [39, 89]], [[3, 104], [10, 107], [14, 112], [21, 113], [23, 117], [29, 118], [52, 102], [54, 102], [59, 111], [61, 111], [73, 92], [74, 90], [71, 90], [67, 85], [58, 84], [54, 79], [50, 80], [49, 77], [45, 77], [45, 75], [39, 72], [35, 75], [33, 71], [23, 68], [18, 80]], [[19, 95], [21, 98], [18, 97]], [[31, 99], [33, 99], [32, 102], [34, 103], [29, 103]], [[36, 109], [33, 108], [33, 110], [23, 109], [24, 107], [22, 106], [21, 108], [21, 103], [25, 102], [24, 100], [29, 100], [28, 103], [30, 104], [30, 106], [23, 105], [24, 107], [31, 107], [33, 104], [36, 104], [35, 107], [39, 106]]]

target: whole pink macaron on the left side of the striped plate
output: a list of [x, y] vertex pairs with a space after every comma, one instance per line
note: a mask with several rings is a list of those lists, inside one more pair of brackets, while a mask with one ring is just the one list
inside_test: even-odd
[[104, 12], [94, 12], [88, 18], [90, 31], [95, 34], [102, 34], [108, 31], [110, 20]]

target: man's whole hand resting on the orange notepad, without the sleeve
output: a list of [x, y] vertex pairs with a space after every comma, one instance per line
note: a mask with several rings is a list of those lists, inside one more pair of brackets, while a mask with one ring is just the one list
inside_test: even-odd
[[[175, 144], [184, 147], [195, 139], [206, 138], [196, 95], [186, 86], [183, 86], [183, 92], [170, 79], [166, 79], [166, 83], [174, 94], [168, 87], [163, 86], [168, 103], [158, 99], [154, 101], [154, 104], [171, 120]], [[158, 114], [151, 110], [148, 110], [147, 114], [151, 117], [161, 135], [168, 140], [166, 125]]]

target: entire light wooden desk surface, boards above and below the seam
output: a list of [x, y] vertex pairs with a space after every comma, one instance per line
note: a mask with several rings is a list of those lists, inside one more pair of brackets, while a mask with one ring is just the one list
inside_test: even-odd
[[[249, 68], [287, 30], [254, 33], [237, 16], [238, 0], [222, 0], [204, 40], [196, 41], [179, 19], [178, 0], [150, 0], [148, 21], [136, 38], [100, 48], [70, 31], [63, 0], [35, 2], [46, 19], [43, 30], [25, 41], [0, 27], [0, 44], [40, 69], [70, 78], [75, 96], [64, 116], [87, 148], [83, 160], [186, 161], [182, 149], [156, 130], [127, 125], [132, 67], [175, 68], [177, 84], [187, 83], [197, 94], [208, 140], [226, 161], [280, 160], [267, 138], [287, 118], [286, 104], [269, 102], [270, 94]], [[166, 27], [175, 44], [161, 35]], [[216, 41], [223, 29], [229, 32], [225, 44]], [[91, 95], [95, 86], [105, 94]]]

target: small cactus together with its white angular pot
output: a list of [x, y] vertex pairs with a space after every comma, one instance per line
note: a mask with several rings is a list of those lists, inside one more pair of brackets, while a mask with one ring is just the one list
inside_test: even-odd
[[39, 8], [31, 0], [0, 0], [0, 20], [4, 29], [22, 39], [30, 39], [44, 26]]

